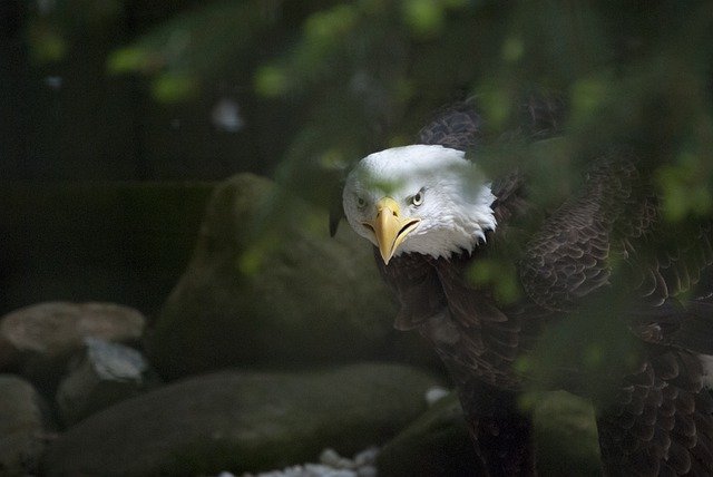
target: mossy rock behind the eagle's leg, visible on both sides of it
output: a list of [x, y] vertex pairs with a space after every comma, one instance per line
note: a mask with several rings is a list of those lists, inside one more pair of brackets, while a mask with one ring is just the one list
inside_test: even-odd
[[[527, 392], [520, 405], [533, 415], [539, 475], [602, 475], [596, 421], [587, 401], [564, 391]], [[382, 477], [485, 475], [456, 395], [438, 400], [384, 445], [377, 467]]]

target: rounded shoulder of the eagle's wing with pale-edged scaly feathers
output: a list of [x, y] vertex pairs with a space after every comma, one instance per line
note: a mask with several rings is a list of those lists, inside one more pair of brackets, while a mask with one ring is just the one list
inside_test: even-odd
[[[526, 245], [519, 263], [522, 288], [530, 300], [553, 311], [569, 311], [592, 292], [607, 285], [611, 260], [624, 250], [614, 235], [636, 202], [636, 169], [628, 163], [605, 162], [588, 174], [583, 194], [567, 201]], [[646, 220], [632, 225], [641, 235]]]

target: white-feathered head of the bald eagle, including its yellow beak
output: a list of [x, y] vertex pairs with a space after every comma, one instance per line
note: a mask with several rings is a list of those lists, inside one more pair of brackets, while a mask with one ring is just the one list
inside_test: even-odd
[[471, 252], [496, 227], [495, 198], [462, 150], [438, 145], [364, 157], [346, 177], [342, 196], [349, 224], [379, 249], [385, 264], [401, 253]]

